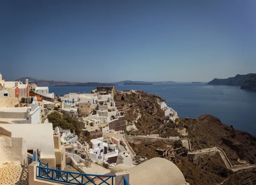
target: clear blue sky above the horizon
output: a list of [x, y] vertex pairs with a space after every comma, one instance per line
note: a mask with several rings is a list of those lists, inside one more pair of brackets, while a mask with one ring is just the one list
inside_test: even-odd
[[256, 72], [256, 0], [6, 0], [0, 72], [70, 82]]

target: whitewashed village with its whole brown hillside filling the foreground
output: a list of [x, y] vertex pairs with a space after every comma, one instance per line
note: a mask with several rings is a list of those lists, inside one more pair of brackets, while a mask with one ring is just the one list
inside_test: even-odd
[[180, 119], [155, 94], [56, 96], [1, 74], [0, 87], [0, 184], [233, 184], [240, 172], [256, 182], [255, 137], [209, 115]]

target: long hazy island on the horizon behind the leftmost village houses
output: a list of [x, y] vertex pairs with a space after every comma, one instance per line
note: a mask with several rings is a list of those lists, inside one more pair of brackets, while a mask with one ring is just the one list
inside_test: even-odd
[[22, 83], [26, 83], [26, 79], [29, 80], [29, 83], [35, 83], [38, 86], [49, 86], [49, 85], [74, 85], [74, 84], [78, 84], [81, 82], [66, 82], [66, 81], [55, 81], [55, 80], [38, 80], [35, 78], [31, 78], [31, 77], [23, 77], [23, 78], [19, 78], [15, 81], [20, 81]]

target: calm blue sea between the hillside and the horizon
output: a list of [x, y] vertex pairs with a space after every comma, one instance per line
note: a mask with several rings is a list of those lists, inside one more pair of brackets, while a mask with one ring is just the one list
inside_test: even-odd
[[[96, 87], [49, 86], [56, 95], [91, 93]], [[197, 118], [203, 114], [218, 117], [236, 130], [256, 136], [256, 92], [240, 86], [207, 85], [206, 83], [164, 83], [153, 85], [116, 85], [117, 90], [143, 90], [166, 100], [180, 118]]]

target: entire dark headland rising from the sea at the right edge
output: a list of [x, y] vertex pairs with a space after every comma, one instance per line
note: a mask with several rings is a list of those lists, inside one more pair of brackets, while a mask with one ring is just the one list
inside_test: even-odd
[[210, 85], [237, 85], [241, 86], [241, 89], [256, 91], [256, 74], [237, 74], [235, 77], [229, 77], [227, 79], [215, 78], [209, 83]]

